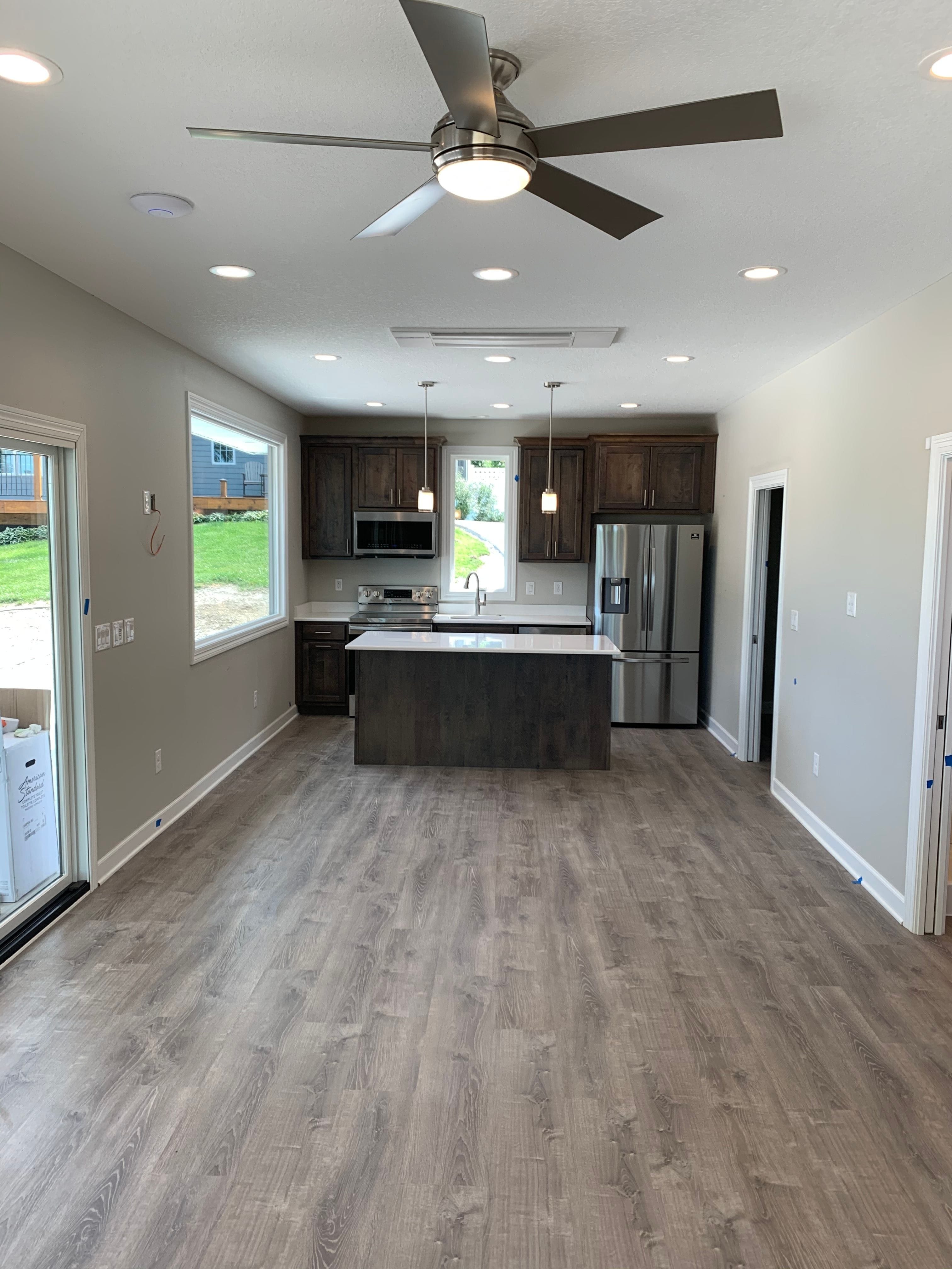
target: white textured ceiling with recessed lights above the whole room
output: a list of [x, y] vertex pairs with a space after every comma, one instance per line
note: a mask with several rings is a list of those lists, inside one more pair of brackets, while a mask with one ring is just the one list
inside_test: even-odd
[[[477, 4], [473, 4], [479, 8]], [[786, 137], [556, 160], [660, 211], [617, 242], [528, 193], [447, 197], [392, 239], [352, 235], [426, 155], [193, 141], [187, 124], [426, 140], [443, 113], [397, 0], [6, 0], [0, 241], [310, 414], [713, 411], [952, 272], [947, 0], [486, 0], [537, 124], [776, 88]], [[133, 212], [184, 194], [185, 220]], [[220, 282], [215, 263], [258, 270]], [[744, 265], [778, 263], [774, 283]], [[512, 283], [471, 277], [485, 264]], [[0, 302], [3, 297], [0, 296]], [[604, 350], [401, 350], [387, 327], [618, 325]], [[315, 352], [343, 360], [319, 364]], [[687, 352], [687, 367], [663, 362]], [[372, 411], [371, 411], [372, 412]], [[617, 411], [618, 416], [630, 418]]]

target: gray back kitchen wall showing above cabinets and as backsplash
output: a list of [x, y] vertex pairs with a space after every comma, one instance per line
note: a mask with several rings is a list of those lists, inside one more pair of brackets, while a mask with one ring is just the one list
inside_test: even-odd
[[[545, 393], [543, 393], [545, 395]], [[556, 398], [557, 405], [557, 398]], [[305, 431], [334, 437], [423, 437], [423, 420], [378, 418], [320, 418], [307, 419]], [[498, 419], [439, 419], [430, 418], [430, 431], [446, 437], [453, 445], [512, 445], [514, 437], [547, 437], [548, 414], [545, 418]], [[552, 426], [557, 437], [588, 437], [593, 433], [623, 431], [630, 434], [677, 434], [685, 431], [716, 431], [710, 415], [640, 416], [637, 420], [561, 419]], [[442, 511], [443, 508], [440, 506]], [[344, 582], [343, 591], [334, 590], [334, 579]], [[439, 582], [439, 560], [311, 560], [307, 562], [308, 599], [350, 600], [357, 603], [357, 588], [366, 581], [383, 582]], [[526, 594], [526, 582], [536, 584], [536, 594]], [[562, 594], [552, 593], [552, 584], [562, 582]], [[518, 563], [515, 570], [515, 603], [524, 604], [584, 604], [588, 598], [588, 565], [584, 563]]]

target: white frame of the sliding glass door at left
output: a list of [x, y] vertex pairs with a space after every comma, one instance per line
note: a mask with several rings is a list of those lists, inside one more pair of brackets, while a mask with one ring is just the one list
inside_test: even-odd
[[[63, 737], [69, 745], [66, 764], [67, 794], [71, 807], [65, 808], [65, 822], [74, 834], [76, 858], [75, 876], [89, 881], [89, 888], [95, 890], [96, 878], [96, 808], [95, 808], [95, 759], [93, 751], [93, 637], [89, 619], [90, 572], [89, 572], [89, 494], [86, 467], [86, 429], [81, 423], [53, 419], [48, 415], [17, 410], [0, 405], [0, 433], [10, 440], [33, 444], [55, 445], [72, 453], [75, 461], [75, 481], [67, 491], [67, 505], [61, 510], [74, 520], [72, 541], [77, 558], [74, 560], [79, 574], [79, 594], [72, 588], [66, 589], [63, 622], [67, 626], [69, 641], [74, 652], [71, 665], [69, 702], [63, 702], [72, 726], [70, 736]], [[75, 503], [70, 503], [75, 496]], [[71, 782], [75, 779], [75, 784]], [[43, 896], [38, 896], [43, 898]], [[41, 905], [42, 906], [42, 905]], [[24, 907], [24, 914], [27, 907]], [[19, 914], [18, 914], [19, 915]]]

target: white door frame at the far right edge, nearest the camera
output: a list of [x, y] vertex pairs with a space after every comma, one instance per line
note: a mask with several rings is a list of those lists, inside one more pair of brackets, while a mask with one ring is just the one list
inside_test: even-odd
[[[942, 647], [952, 613], [948, 574], [952, 566], [952, 431], [930, 437], [929, 492], [925, 506], [925, 544], [923, 552], [923, 591], [919, 609], [919, 655], [915, 675], [915, 712], [913, 716], [913, 761], [909, 779], [909, 831], [906, 841], [905, 917], [902, 924], [914, 934], [929, 928], [941, 933], [944, 924], [944, 887], [937, 890], [935, 911], [927, 912], [929, 845], [933, 825], [938, 829], [939, 881], [948, 873], [949, 816], [935, 824], [934, 786], [937, 740], [946, 741], [947, 731], [938, 732], [937, 714], [941, 680], [943, 679]], [[948, 720], [947, 720], [948, 722]], [[946, 745], [943, 744], [943, 749]], [[941, 905], [939, 905], [941, 901]], [[941, 920], [937, 917], [941, 914]], [[935, 923], [935, 925], [933, 924]]]

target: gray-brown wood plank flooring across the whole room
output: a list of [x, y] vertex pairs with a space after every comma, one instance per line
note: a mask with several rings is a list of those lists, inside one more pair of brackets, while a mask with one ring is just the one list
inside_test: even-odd
[[355, 768], [352, 728], [0, 970], [0, 1264], [952, 1264], [949, 940], [758, 768]]

